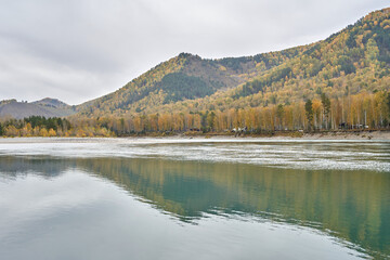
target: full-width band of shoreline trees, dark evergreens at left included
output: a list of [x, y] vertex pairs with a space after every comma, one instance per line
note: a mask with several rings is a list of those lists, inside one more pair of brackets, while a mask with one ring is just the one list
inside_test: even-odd
[[362, 92], [333, 100], [321, 99], [289, 105], [152, 114], [133, 117], [61, 119], [29, 117], [0, 122], [4, 136], [126, 136], [131, 134], [332, 132], [390, 130], [390, 92]]

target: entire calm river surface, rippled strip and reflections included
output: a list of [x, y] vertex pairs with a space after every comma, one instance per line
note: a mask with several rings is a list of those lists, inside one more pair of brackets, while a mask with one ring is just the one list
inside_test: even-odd
[[1, 259], [390, 259], [390, 142], [0, 141]]

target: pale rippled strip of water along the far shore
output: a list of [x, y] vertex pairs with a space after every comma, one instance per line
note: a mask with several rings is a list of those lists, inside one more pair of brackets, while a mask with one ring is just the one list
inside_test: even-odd
[[390, 172], [390, 141], [21, 139], [0, 142], [0, 155], [161, 158]]

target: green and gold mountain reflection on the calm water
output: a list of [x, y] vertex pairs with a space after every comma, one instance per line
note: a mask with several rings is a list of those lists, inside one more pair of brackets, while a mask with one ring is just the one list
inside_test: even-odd
[[[376, 256], [390, 255], [390, 174], [244, 164], [125, 158], [0, 157], [10, 177], [55, 177], [78, 168], [156, 208], [196, 223], [205, 213], [251, 214], [329, 232]], [[379, 255], [378, 255], [379, 256]]]

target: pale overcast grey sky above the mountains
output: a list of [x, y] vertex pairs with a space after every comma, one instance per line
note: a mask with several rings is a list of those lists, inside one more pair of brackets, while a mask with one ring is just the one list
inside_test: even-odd
[[255, 55], [325, 39], [388, 0], [0, 0], [0, 100], [70, 105], [181, 52]]

